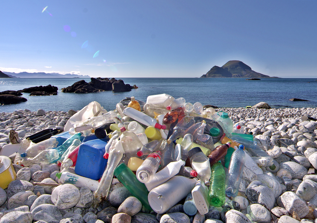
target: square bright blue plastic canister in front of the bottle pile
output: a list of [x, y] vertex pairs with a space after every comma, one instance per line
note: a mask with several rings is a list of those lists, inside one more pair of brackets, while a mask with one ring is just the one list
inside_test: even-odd
[[107, 159], [103, 158], [106, 139], [94, 139], [82, 143], [79, 146], [75, 173], [93, 180], [99, 180], [107, 165]]

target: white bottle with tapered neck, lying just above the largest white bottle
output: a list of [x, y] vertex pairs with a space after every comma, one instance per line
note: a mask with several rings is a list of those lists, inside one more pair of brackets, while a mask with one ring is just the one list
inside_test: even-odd
[[184, 164], [185, 162], [183, 160], [178, 160], [176, 162], [167, 164], [162, 170], [158, 171], [154, 175], [151, 181], [145, 183], [147, 190], [151, 191], [153, 188], [171, 179], [171, 177], [174, 177], [176, 174], [178, 174], [180, 167]]

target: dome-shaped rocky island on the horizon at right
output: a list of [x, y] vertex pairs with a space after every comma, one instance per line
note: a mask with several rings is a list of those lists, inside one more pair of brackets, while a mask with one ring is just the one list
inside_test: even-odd
[[249, 67], [248, 65], [244, 64], [239, 60], [230, 60], [222, 67], [213, 66], [210, 69], [210, 71], [208, 71], [201, 77], [266, 78], [270, 76], [258, 73], [256, 71], [252, 71], [251, 67]]

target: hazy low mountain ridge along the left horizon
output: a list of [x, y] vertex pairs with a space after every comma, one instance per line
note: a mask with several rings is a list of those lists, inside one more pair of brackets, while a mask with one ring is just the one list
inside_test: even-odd
[[88, 75], [77, 75], [77, 74], [58, 74], [58, 73], [44, 73], [44, 72], [38, 72], [38, 73], [28, 73], [28, 72], [21, 72], [21, 73], [12, 73], [12, 72], [1, 72], [0, 71], [0, 77], [3, 75], [7, 75], [8, 77], [13, 78], [61, 78], [61, 77], [80, 77], [80, 78], [90, 78]]

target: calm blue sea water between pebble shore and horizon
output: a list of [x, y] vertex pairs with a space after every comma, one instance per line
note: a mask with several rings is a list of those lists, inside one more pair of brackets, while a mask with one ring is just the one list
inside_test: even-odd
[[[116, 78], [119, 79], [119, 78]], [[139, 88], [129, 92], [98, 92], [88, 94], [62, 93], [80, 78], [1, 78], [0, 91], [22, 90], [48, 84], [58, 87], [54, 96], [29, 96], [23, 93], [27, 102], [1, 105], [0, 112], [19, 109], [45, 111], [69, 109], [80, 110], [88, 103], [97, 101], [107, 110], [125, 97], [135, 96], [145, 101], [149, 95], [169, 94], [175, 98], [184, 97], [186, 102], [201, 102], [220, 107], [246, 107], [267, 102], [272, 108], [315, 108], [317, 107], [317, 78], [262, 78], [258, 81], [245, 78], [121, 78], [126, 84], [136, 84]], [[90, 79], [84, 79], [89, 82]], [[291, 98], [308, 101], [289, 101]]]

